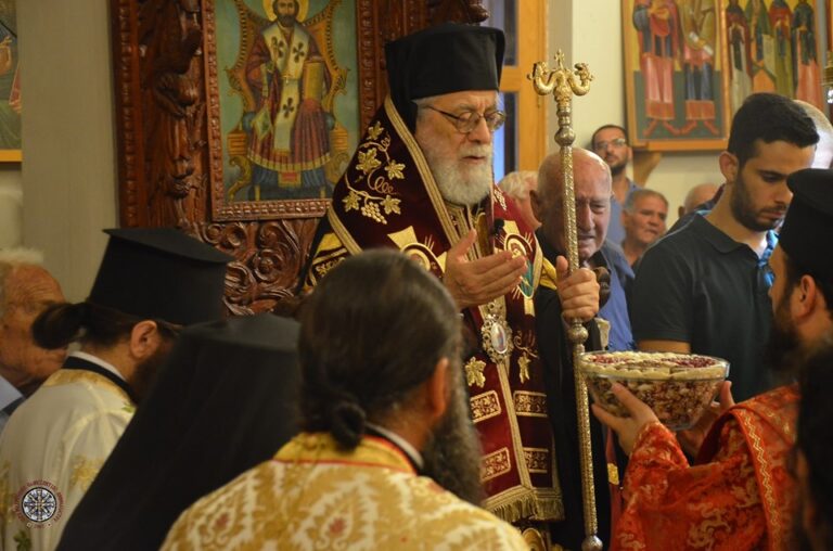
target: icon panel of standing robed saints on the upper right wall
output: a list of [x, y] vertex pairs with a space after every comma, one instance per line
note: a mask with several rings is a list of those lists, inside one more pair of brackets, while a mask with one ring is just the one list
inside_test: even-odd
[[753, 92], [822, 106], [815, 0], [625, 0], [630, 141], [718, 150]]

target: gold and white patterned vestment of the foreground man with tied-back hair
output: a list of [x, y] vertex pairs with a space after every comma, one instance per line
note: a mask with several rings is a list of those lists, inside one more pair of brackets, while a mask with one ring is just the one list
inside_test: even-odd
[[521, 534], [419, 476], [389, 441], [302, 433], [188, 509], [164, 550], [527, 550]]

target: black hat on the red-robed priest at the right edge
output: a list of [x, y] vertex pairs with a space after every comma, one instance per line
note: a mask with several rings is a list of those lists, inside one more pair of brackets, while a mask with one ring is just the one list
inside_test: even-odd
[[793, 202], [779, 244], [790, 259], [810, 274], [833, 279], [833, 255], [820, 244], [833, 235], [833, 170], [806, 168], [786, 179]]

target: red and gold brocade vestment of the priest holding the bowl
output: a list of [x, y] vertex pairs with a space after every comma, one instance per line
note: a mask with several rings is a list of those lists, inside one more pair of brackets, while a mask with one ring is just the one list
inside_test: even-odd
[[[689, 466], [659, 423], [638, 436], [611, 549], [791, 549], [798, 394], [784, 386], [743, 401], [712, 427]], [[669, 547], [670, 546], [670, 547]]]

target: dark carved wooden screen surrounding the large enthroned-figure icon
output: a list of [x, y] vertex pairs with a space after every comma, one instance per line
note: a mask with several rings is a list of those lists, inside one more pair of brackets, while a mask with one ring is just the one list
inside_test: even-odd
[[[208, 149], [217, 125], [216, 0], [111, 0], [119, 213], [123, 227], [177, 227], [234, 256], [226, 304], [234, 315], [273, 309], [293, 295], [317, 218], [270, 213], [212, 219]], [[356, 0], [359, 117], [364, 128], [386, 88], [384, 43], [444, 21], [479, 23], [479, 0]], [[214, 79], [216, 82], [216, 78]], [[284, 213], [285, 214], [285, 213]]]

